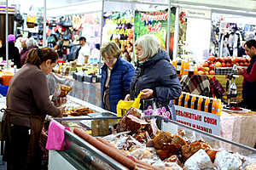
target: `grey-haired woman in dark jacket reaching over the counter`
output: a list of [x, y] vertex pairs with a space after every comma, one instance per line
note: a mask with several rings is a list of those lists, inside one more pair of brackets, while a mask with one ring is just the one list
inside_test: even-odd
[[165, 50], [160, 49], [160, 41], [154, 35], [138, 38], [135, 46], [138, 66], [131, 80], [130, 94], [126, 95], [125, 100], [133, 100], [143, 91], [142, 104], [148, 99], [156, 99], [156, 104], [165, 106], [167, 111], [171, 111], [172, 119], [175, 120], [172, 100], [180, 96], [182, 87], [175, 68], [170, 63], [169, 55]]

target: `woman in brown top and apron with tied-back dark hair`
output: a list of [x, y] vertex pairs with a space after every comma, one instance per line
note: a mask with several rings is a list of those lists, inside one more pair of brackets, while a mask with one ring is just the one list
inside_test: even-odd
[[3, 116], [7, 122], [3, 160], [7, 161], [9, 170], [41, 169], [38, 141], [44, 118], [61, 115], [61, 110], [49, 100], [46, 78], [57, 59], [58, 54], [50, 48], [32, 48], [26, 65], [10, 81]]

